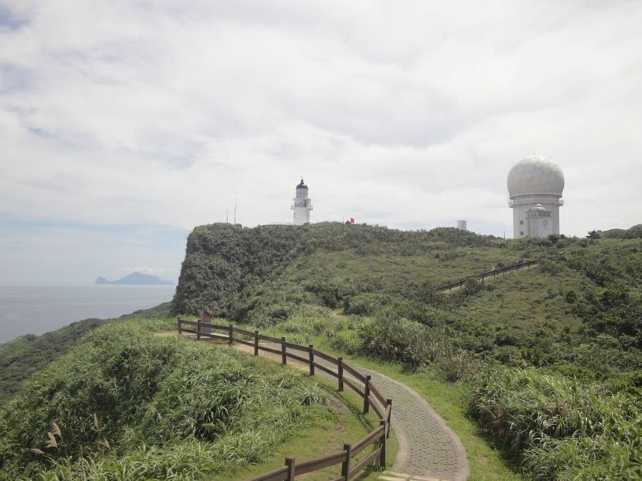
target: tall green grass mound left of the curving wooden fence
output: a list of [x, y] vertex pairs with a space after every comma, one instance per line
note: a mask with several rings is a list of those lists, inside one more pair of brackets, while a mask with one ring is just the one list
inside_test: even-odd
[[0, 410], [0, 479], [220, 475], [328, 415], [300, 373], [154, 327], [98, 329], [31, 378]]

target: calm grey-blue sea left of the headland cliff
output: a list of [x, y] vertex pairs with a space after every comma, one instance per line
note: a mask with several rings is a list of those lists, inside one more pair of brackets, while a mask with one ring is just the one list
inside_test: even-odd
[[82, 319], [111, 319], [171, 301], [176, 286], [0, 286], [0, 343]]

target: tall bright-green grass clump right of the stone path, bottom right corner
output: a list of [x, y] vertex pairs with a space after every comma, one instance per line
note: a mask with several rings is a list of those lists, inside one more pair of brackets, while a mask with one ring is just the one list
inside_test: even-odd
[[470, 408], [537, 480], [639, 479], [639, 400], [597, 385], [500, 368], [474, 380]]

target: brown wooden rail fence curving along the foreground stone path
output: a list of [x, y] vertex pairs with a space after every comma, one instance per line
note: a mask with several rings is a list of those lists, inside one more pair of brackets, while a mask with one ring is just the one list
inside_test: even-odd
[[[363, 376], [350, 364], [345, 363], [343, 358], [330, 356], [315, 349], [312, 344], [299, 346], [285, 341], [285, 337], [264, 336], [259, 331], [246, 331], [231, 324], [228, 326], [212, 324], [211, 320], [212, 314], [207, 311], [203, 311], [197, 321], [186, 321], [179, 318], [178, 333], [195, 334], [197, 340], [201, 338], [220, 339], [226, 341], [230, 346], [233, 343], [244, 344], [254, 348], [255, 356], [258, 356], [259, 351], [280, 355], [282, 364], [287, 364], [288, 358], [306, 363], [310, 368], [310, 376], [314, 376], [316, 370], [320, 369], [320, 371], [336, 378], [339, 391], [343, 391], [344, 386], [348, 386], [357, 395], [360, 395], [363, 399], [364, 414], [369, 413], [372, 408], [379, 417], [377, 428], [374, 428], [372, 432], [356, 443], [343, 445], [342, 451], [299, 463], [295, 462], [294, 457], [286, 457], [284, 467], [255, 477], [252, 481], [290, 481], [294, 480], [297, 475], [304, 475], [333, 465], [341, 465], [341, 475], [334, 479], [348, 481], [376, 460], [379, 461], [379, 466], [385, 469], [386, 438], [390, 435], [392, 399], [384, 398], [377, 386], [374, 386], [374, 383], [370, 381], [370, 376]], [[260, 341], [267, 341], [272, 345], [277, 344], [278, 347], [265, 346]], [[319, 362], [320, 359], [325, 362]], [[378, 443], [377, 448], [369, 455], [358, 462], [355, 460], [360, 452], [375, 443]]]

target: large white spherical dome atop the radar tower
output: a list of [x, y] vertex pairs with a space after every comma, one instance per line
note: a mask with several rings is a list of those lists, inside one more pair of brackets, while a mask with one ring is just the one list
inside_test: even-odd
[[564, 190], [564, 173], [549, 157], [529, 155], [517, 162], [506, 179], [511, 199], [516, 195], [556, 195]]

